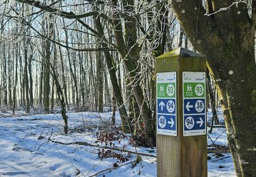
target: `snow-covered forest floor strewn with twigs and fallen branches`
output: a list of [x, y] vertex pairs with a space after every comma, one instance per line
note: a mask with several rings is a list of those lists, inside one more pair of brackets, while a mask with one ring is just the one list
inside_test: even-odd
[[[18, 114], [0, 112], [0, 176], [156, 176], [156, 148], [110, 128], [112, 112], [68, 113], [68, 135], [60, 114]], [[208, 135], [208, 150], [218, 145], [227, 146], [223, 127]], [[235, 176], [230, 153], [208, 154], [208, 176]]]

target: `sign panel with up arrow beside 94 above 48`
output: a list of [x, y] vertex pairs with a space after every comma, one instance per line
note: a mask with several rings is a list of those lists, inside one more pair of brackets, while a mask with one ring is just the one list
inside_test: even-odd
[[156, 74], [156, 130], [177, 136], [176, 72]]

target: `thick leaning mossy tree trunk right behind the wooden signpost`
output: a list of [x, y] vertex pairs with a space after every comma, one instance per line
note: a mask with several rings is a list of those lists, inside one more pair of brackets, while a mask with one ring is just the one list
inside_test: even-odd
[[[208, 2], [208, 12], [214, 12], [231, 1]], [[256, 176], [255, 27], [246, 7], [240, 3], [205, 16], [200, 1], [172, 4], [190, 42], [207, 57], [216, 80], [236, 174]]]

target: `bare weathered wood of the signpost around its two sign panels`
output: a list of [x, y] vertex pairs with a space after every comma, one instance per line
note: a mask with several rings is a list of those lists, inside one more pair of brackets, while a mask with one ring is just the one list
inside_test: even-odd
[[177, 72], [177, 137], [156, 135], [158, 177], [207, 176], [206, 135], [183, 136], [182, 71], [205, 71], [204, 57], [164, 54], [156, 59], [156, 73]]

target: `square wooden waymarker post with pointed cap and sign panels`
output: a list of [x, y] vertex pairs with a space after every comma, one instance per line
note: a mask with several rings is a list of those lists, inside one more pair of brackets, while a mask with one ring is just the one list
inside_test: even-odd
[[207, 176], [205, 68], [184, 48], [156, 58], [158, 177]]

